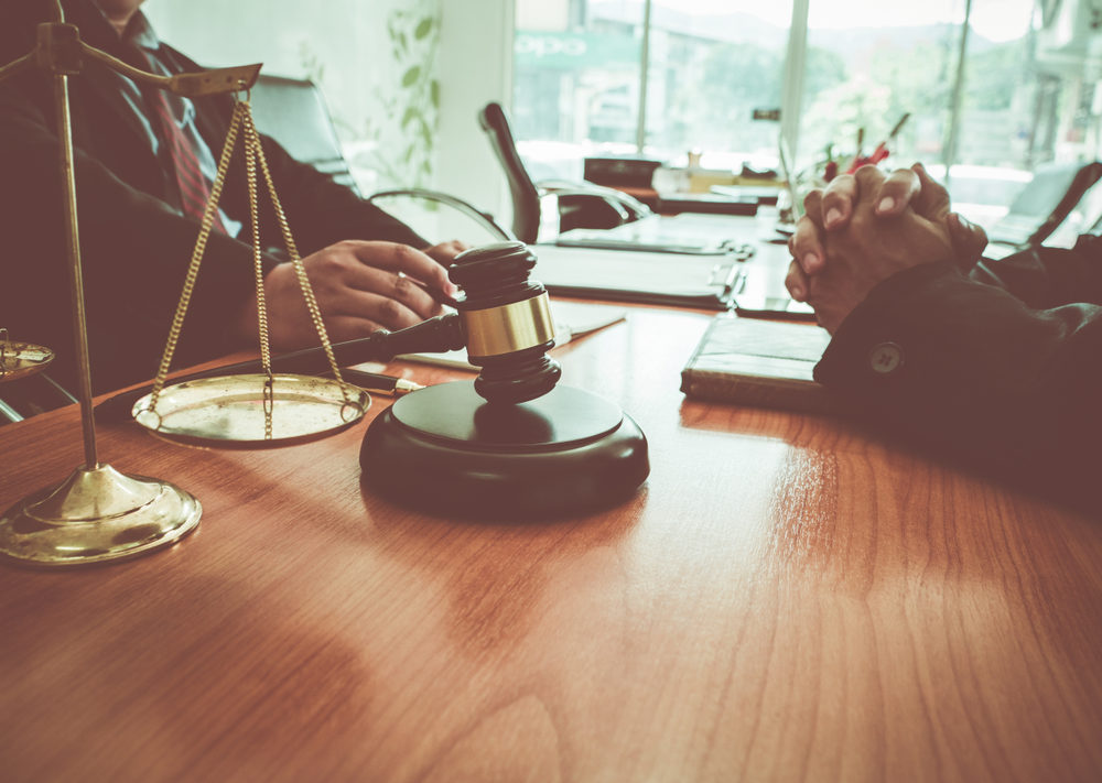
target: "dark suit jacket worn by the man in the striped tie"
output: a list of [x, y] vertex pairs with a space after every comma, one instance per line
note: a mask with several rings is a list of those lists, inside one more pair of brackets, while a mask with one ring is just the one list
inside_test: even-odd
[[[15, 13], [15, 11], [19, 13]], [[107, 50], [114, 32], [90, 3], [75, 3], [73, 20], [82, 37]], [[29, 51], [41, 3], [3, 4], [0, 52]], [[84, 15], [82, 15], [84, 14]], [[183, 55], [181, 66], [197, 66]], [[127, 135], [117, 111], [105, 104], [86, 64], [71, 79], [75, 132], [77, 207], [91, 351], [93, 388], [107, 391], [145, 380], [158, 368], [195, 247], [198, 224], [158, 198], [161, 175], [140, 164], [139, 138]], [[216, 157], [225, 142], [233, 100], [197, 99], [197, 122]], [[47, 79], [28, 72], [0, 85], [0, 326], [20, 339], [48, 345], [57, 352], [51, 373], [75, 388], [72, 300], [65, 263], [63, 188], [58, 174], [55, 116]], [[299, 251], [305, 255], [344, 239], [387, 240], [425, 247], [407, 226], [312, 166], [292, 160], [271, 140], [264, 142], [277, 191]], [[241, 142], [220, 205], [248, 221]], [[261, 188], [262, 189], [262, 188]], [[152, 195], [151, 195], [152, 194]], [[263, 248], [283, 242], [266, 195], [261, 196]], [[249, 227], [245, 229], [249, 238]], [[279, 257], [262, 254], [262, 272]], [[212, 235], [203, 253], [194, 294], [183, 323], [174, 366], [216, 358], [238, 347], [231, 342], [231, 315], [255, 291], [249, 244]]]

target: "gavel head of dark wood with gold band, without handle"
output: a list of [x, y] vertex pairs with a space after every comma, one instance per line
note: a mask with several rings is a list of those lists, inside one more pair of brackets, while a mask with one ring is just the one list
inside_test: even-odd
[[547, 394], [562, 368], [548, 356], [554, 324], [543, 285], [529, 279], [536, 257], [521, 242], [498, 242], [455, 257], [447, 273], [464, 296], [455, 302], [467, 359], [480, 368], [475, 391], [489, 402]]

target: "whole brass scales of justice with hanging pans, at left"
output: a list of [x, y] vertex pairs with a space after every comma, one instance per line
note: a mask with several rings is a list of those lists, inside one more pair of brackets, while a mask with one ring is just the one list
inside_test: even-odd
[[[68, 77], [79, 74], [83, 58], [88, 57], [158, 89], [199, 97], [247, 94], [256, 83], [260, 65], [171, 77], [155, 76], [82, 42], [77, 28], [65, 23], [60, 0], [50, 0], [48, 4], [53, 21], [39, 25], [32, 52], [0, 67], [0, 80], [31, 67], [45, 70], [53, 80], [85, 460], [60, 485], [41, 489], [4, 512], [0, 518], [0, 556], [25, 565], [58, 567], [136, 557], [171, 545], [194, 530], [202, 514], [199, 501], [187, 491], [162, 479], [122, 474], [98, 458], [76, 214]], [[239, 134], [244, 138], [248, 176], [263, 371], [165, 385]], [[271, 370], [257, 224], [258, 170], [271, 194], [284, 244], [294, 263], [333, 378], [273, 373]], [[17, 342], [10, 340], [7, 333], [0, 333], [0, 382], [41, 371], [51, 359], [53, 352], [48, 348]], [[358, 387], [345, 383], [341, 377], [316, 300], [276, 195], [248, 97], [244, 100], [239, 97], [153, 390], [134, 405], [134, 421], [159, 437], [177, 443], [258, 448], [304, 443], [338, 432], [363, 418], [369, 405], [368, 394]]]

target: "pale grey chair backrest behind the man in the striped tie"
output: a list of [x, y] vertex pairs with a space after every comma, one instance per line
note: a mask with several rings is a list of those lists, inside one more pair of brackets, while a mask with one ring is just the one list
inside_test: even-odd
[[261, 74], [252, 87], [251, 104], [261, 133], [272, 137], [295, 160], [359, 194], [317, 85], [307, 79]]

